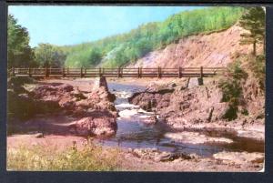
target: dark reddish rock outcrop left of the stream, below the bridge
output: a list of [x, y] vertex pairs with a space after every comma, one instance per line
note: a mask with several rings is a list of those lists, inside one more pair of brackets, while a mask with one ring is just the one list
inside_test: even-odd
[[54, 80], [25, 87], [11, 80], [9, 85], [9, 124], [14, 128], [84, 137], [116, 133], [116, 97], [108, 91], [105, 78], [86, 91]]

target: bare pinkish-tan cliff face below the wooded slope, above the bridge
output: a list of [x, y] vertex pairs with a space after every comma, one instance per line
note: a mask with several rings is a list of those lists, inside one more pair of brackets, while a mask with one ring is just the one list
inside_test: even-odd
[[243, 31], [238, 25], [233, 25], [225, 31], [188, 36], [180, 39], [177, 44], [150, 52], [132, 66], [227, 66], [237, 53], [249, 54], [252, 51], [252, 46], [239, 44]]

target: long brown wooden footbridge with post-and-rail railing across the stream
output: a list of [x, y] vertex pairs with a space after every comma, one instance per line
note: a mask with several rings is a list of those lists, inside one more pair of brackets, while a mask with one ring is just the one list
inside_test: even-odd
[[210, 77], [225, 71], [225, 67], [177, 67], [177, 68], [11, 68], [12, 76], [43, 77]]

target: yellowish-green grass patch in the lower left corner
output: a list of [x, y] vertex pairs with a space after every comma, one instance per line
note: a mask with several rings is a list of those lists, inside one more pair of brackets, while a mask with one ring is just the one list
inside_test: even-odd
[[111, 171], [118, 169], [118, 150], [96, 145], [76, 145], [56, 151], [56, 147], [36, 145], [7, 149], [8, 170], [35, 171]]

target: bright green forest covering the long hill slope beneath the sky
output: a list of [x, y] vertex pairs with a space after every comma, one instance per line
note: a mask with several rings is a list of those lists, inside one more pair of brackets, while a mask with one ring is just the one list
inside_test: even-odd
[[[172, 15], [164, 22], [140, 25], [126, 34], [60, 48], [67, 54], [66, 66], [126, 66], [182, 37], [226, 29], [238, 21], [243, 11], [241, 7], [186, 11]], [[95, 54], [92, 52], [94, 49]]]

